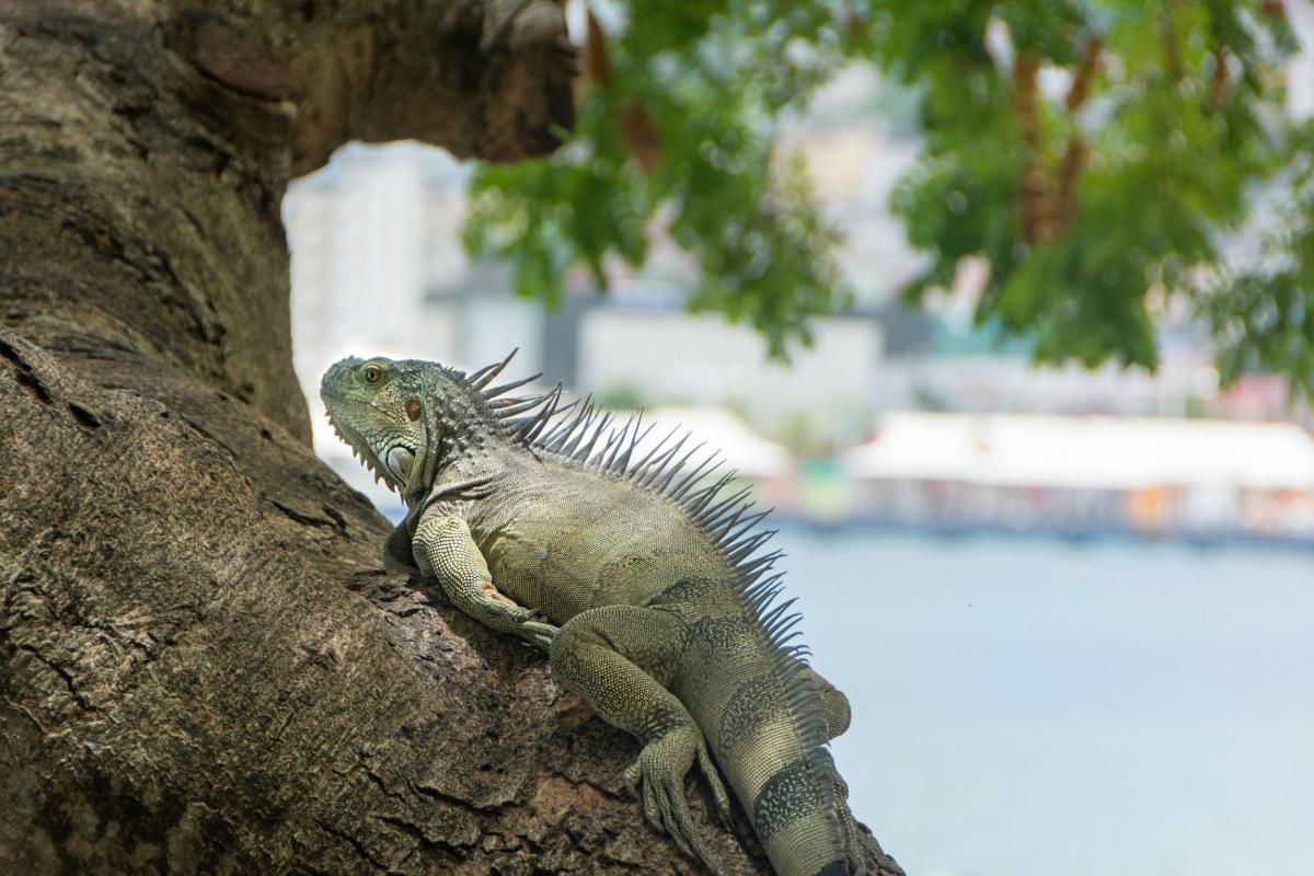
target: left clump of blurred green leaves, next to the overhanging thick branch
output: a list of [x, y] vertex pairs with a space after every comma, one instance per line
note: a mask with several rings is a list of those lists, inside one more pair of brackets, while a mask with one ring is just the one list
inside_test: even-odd
[[586, 95], [573, 142], [553, 159], [485, 167], [466, 240], [514, 260], [516, 290], [556, 301], [562, 274], [641, 265], [649, 225], [696, 261], [694, 310], [748, 322], [782, 355], [805, 315], [848, 298], [830, 257], [838, 235], [803, 167], [773, 160], [782, 116], [844, 60], [824, 3], [652, 3], [590, 12]]

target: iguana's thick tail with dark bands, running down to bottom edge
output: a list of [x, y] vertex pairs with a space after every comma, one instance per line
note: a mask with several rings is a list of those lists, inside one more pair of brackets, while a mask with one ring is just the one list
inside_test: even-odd
[[[685, 703], [744, 805], [779, 876], [862, 869], [846, 788], [825, 747], [817, 676], [791, 646], [790, 602], [771, 607], [778, 577], [744, 587], [686, 580], [690, 638], [675, 695]], [[673, 607], [674, 608], [674, 607]], [[692, 611], [690, 611], [692, 609]]]

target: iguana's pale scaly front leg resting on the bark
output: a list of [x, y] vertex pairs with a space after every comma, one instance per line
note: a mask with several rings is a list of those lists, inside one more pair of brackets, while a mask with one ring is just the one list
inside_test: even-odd
[[539, 615], [532, 608], [498, 592], [465, 517], [431, 506], [415, 527], [411, 550], [419, 570], [436, 578], [443, 594], [463, 612], [485, 626], [514, 633], [539, 647], [552, 646], [560, 630], [536, 620]]

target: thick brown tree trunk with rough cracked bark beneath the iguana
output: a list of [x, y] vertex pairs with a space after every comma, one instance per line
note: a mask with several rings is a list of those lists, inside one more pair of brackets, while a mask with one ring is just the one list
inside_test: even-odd
[[0, 0], [0, 872], [698, 872], [628, 737], [382, 573], [292, 372], [286, 181], [347, 139], [549, 151], [562, 34], [549, 0]]

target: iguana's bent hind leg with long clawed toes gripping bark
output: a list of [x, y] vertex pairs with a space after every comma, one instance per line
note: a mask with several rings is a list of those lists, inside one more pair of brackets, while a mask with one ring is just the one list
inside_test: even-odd
[[639, 737], [643, 750], [625, 783], [644, 814], [679, 848], [721, 872], [694, 831], [685, 776], [698, 760], [724, 816], [729, 797], [712, 766], [703, 732], [666, 690], [678, 668], [687, 628], [674, 615], [636, 605], [603, 605], [570, 619], [552, 644], [552, 667], [612, 726]]

